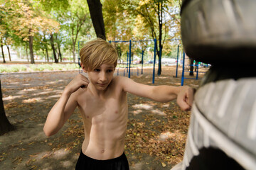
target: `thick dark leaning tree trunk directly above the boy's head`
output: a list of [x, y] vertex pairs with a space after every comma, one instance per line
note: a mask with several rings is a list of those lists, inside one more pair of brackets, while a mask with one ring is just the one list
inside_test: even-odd
[[87, 0], [87, 4], [89, 6], [90, 16], [97, 38], [106, 40], [102, 4], [100, 3], [100, 0]]

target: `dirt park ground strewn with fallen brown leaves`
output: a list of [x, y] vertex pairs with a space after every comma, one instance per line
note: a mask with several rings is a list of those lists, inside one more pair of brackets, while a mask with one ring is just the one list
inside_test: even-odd
[[[151, 85], [151, 70], [132, 76]], [[121, 70], [120, 70], [121, 72]], [[6, 115], [16, 130], [0, 136], [0, 169], [74, 169], [83, 140], [80, 113], [75, 110], [60, 132], [43, 133], [50, 108], [78, 72], [2, 74], [1, 86]], [[137, 72], [136, 72], [137, 74]], [[155, 85], [180, 86], [175, 67], [163, 67]], [[202, 77], [202, 74], [199, 75]], [[200, 80], [186, 79], [198, 88]], [[158, 103], [128, 94], [129, 122], [125, 154], [131, 170], [171, 169], [181, 162], [190, 112], [181, 111], [176, 101]]]

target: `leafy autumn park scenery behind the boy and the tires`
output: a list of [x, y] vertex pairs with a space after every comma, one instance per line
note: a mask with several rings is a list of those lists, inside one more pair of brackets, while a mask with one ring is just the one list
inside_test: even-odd
[[[117, 47], [115, 74], [128, 76], [125, 68], [131, 55], [135, 81], [152, 85], [157, 74], [155, 85], [181, 85], [181, 1], [96, 2], [102, 4], [100, 26], [92, 24], [99, 8], [89, 8], [90, 0], [1, 0], [0, 169], [73, 169], [82, 143], [79, 112], [56, 136], [46, 137], [43, 124], [65, 85], [78, 74], [78, 52], [89, 40], [106, 38]], [[163, 58], [175, 60], [170, 64]], [[187, 69], [193, 71], [191, 66]], [[192, 79], [186, 85], [199, 86], [193, 72], [187, 77]], [[182, 112], [175, 101], [156, 103], [129, 94], [128, 102], [125, 150], [130, 169], [171, 169], [181, 162], [190, 112]], [[9, 124], [3, 122], [5, 115]]]

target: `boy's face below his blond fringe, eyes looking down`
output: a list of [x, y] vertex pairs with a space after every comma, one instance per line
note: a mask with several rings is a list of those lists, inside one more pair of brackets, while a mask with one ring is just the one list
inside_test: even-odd
[[112, 81], [114, 75], [114, 64], [102, 64], [100, 67], [87, 72], [90, 83], [97, 90], [105, 90]]

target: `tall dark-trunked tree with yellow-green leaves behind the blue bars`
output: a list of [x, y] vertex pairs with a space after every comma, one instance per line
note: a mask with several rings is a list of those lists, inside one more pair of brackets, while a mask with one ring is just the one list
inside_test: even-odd
[[[145, 28], [149, 28], [151, 38], [156, 39], [156, 55], [159, 57], [159, 70], [161, 74], [161, 53], [166, 38], [170, 38], [170, 28], [175, 24], [171, 24], [174, 18], [167, 17], [169, 8], [176, 6], [178, 1], [169, 0], [127, 0], [127, 10], [131, 15], [137, 16], [142, 20]], [[139, 20], [137, 20], [139, 21]]]

